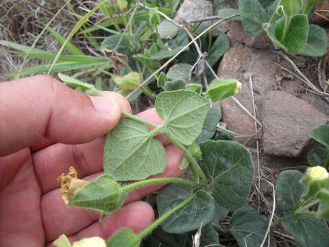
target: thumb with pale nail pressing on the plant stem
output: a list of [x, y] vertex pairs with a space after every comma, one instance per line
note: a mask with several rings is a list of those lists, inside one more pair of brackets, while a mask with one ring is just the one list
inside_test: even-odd
[[130, 105], [117, 93], [88, 97], [45, 75], [0, 84], [0, 156], [45, 137], [86, 143], [118, 123]]

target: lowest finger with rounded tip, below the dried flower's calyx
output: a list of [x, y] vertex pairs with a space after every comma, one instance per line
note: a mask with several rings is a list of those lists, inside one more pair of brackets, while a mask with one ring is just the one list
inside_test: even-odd
[[[78, 241], [85, 237], [101, 237], [108, 239], [115, 231], [121, 228], [131, 228], [134, 233], [138, 233], [146, 228], [154, 221], [154, 211], [147, 202], [132, 202], [123, 206], [119, 211], [114, 212], [105, 220], [95, 222], [87, 226], [82, 231], [69, 233], [64, 231], [66, 235], [71, 235], [69, 239], [71, 242]], [[63, 222], [65, 223], [65, 222]], [[65, 229], [63, 224], [63, 230]], [[58, 235], [48, 235], [46, 232], [46, 242], [53, 241], [59, 237]]]

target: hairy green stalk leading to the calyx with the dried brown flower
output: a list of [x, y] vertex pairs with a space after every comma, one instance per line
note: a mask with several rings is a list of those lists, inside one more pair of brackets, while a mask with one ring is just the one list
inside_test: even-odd
[[154, 185], [159, 183], [182, 183], [184, 185], [200, 187], [199, 183], [184, 178], [149, 178], [147, 180], [141, 180], [136, 183], [132, 183], [130, 185], [125, 185], [122, 187], [122, 190], [123, 192], [129, 192], [141, 187], [147, 187], [149, 185]]

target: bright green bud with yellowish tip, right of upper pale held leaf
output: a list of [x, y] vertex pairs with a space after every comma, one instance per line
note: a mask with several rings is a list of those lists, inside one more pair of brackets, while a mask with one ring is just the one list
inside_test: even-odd
[[241, 88], [241, 82], [235, 79], [217, 79], [211, 82], [206, 95], [212, 100], [217, 102], [226, 97], [234, 95]]

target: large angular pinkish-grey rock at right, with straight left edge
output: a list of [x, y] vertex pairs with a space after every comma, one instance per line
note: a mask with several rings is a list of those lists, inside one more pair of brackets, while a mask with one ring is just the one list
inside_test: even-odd
[[327, 121], [326, 115], [302, 99], [282, 91], [267, 93], [263, 102], [264, 153], [299, 156], [310, 141], [310, 130]]

